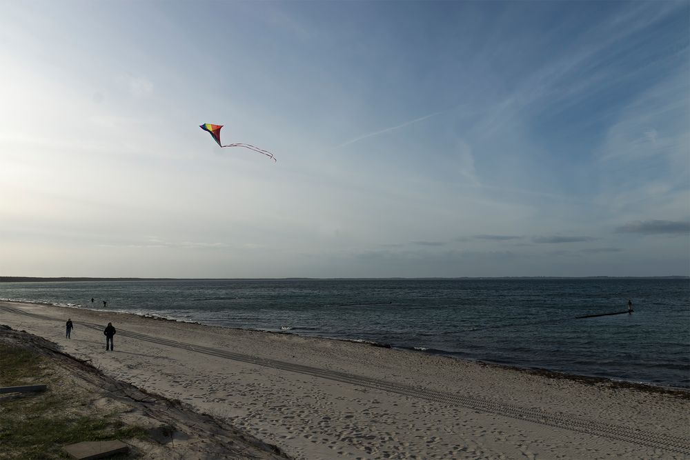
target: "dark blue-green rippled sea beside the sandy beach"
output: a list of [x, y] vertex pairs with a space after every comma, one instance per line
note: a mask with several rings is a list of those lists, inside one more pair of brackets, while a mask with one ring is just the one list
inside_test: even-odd
[[689, 279], [8, 282], [0, 299], [690, 389]]

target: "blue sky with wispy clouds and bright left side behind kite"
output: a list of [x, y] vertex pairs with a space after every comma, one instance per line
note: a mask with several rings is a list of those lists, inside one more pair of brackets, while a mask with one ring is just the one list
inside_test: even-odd
[[690, 275], [689, 18], [0, 0], [0, 276]]

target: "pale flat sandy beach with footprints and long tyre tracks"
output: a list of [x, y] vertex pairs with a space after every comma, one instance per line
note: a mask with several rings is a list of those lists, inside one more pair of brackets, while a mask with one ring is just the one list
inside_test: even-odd
[[0, 324], [295, 459], [690, 457], [682, 390], [35, 303], [0, 302]]

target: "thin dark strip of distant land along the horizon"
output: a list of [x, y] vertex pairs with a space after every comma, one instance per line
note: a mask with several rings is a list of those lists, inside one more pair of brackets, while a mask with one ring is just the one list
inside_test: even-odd
[[35, 283], [51, 281], [395, 281], [395, 280], [506, 280], [506, 279], [688, 279], [690, 276], [670, 275], [665, 277], [389, 277], [389, 278], [99, 278], [99, 277], [0, 277], [0, 283]]

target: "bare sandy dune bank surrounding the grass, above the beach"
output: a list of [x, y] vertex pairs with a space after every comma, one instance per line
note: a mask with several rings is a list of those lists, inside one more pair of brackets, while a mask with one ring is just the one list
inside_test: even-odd
[[[145, 393], [128, 383], [112, 379], [88, 363], [59, 351], [55, 342], [34, 334], [12, 330], [7, 326], [0, 326], [0, 343], [10, 348], [31, 350], [40, 356], [42, 372], [39, 381], [45, 382], [48, 386], [45, 393], [0, 394], [0, 428], [5, 428], [5, 423], [10, 419], [16, 420], [17, 416], [26, 417], [26, 413], [21, 413], [21, 410], [19, 414], [8, 413], [11, 410], [10, 407], [17, 406], [17, 404], [12, 404], [13, 401], [26, 399], [27, 406], [25, 407], [31, 408], [29, 413], [32, 417], [42, 417], [44, 421], [53, 417], [57, 419], [57, 423], [81, 417], [87, 419], [103, 417], [112, 425], [119, 422], [124, 427], [146, 430], [148, 436], [121, 439], [130, 447], [130, 455], [126, 458], [139, 460], [285, 460], [288, 458], [276, 446], [259, 441], [209, 414], [201, 414], [179, 401], [170, 401], [158, 395]], [[2, 377], [5, 377], [3, 371], [4, 369], [0, 370], [0, 381], [3, 380]], [[50, 402], [52, 397], [61, 398], [65, 403], [57, 413], [51, 412], [50, 409], [55, 410], [55, 406]], [[41, 412], [41, 410], [46, 412]], [[16, 421], [9, 423], [11, 426]], [[14, 432], [10, 437], [16, 438], [21, 435], [32, 436], [28, 433]], [[46, 441], [46, 437], [43, 437], [37, 440], [37, 443], [39, 446], [45, 446]], [[97, 448], [103, 448], [99, 441], [95, 441], [95, 444]], [[52, 446], [54, 449], [52, 452], [43, 452], [43, 454], [46, 458], [56, 458], [55, 451], [66, 448], [68, 445], [69, 443], [63, 441], [57, 446]], [[0, 459], [28, 458], [31, 452], [34, 455], [40, 452], [35, 449], [31, 452], [27, 450], [21, 452], [21, 448], [12, 450], [12, 447], [11, 442], [0, 443]], [[16, 448], [16, 444], [14, 447]]]

